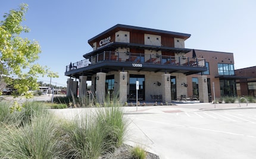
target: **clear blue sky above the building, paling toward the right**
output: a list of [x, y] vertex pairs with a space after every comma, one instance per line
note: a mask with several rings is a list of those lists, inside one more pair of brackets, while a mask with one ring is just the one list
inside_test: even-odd
[[233, 53], [235, 69], [256, 65], [255, 0], [1, 0], [0, 20], [22, 3], [30, 28], [22, 37], [39, 42], [38, 63], [59, 75], [53, 85], [66, 87], [65, 66], [81, 61], [92, 51], [88, 40], [115, 24], [191, 34], [188, 49]]

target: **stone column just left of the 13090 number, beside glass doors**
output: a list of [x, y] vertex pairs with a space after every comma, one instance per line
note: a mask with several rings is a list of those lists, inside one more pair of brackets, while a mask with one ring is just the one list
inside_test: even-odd
[[127, 72], [119, 74], [119, 101], [122, 104], [127, 101]]

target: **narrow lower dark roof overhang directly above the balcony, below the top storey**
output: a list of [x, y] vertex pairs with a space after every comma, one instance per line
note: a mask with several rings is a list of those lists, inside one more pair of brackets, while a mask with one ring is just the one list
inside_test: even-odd
[[118, 47], [148, 49], [148, 50], [157, 50], [157, 51], [165, 51], [165, 52], [173, 52], [173, 53], [188, 53], [188, 52], [191, 52], [191, 50], [192, 50], [192, 49], [176, 48], [176, 47], [165, 47], [165, 46], [153, 46], [153, 45], [136, 44], [136, 43], [114, 42], [114, 43], [107, 44], [101, 48], [98, 48], [98, 49], [94, 50], [93, 52], [86, 53], [85, 55], [83, 55], [83, 57], [90, 58], [90, 56], [96, 55], [97, 53], [102, 53], [106, 50], [117, 49]]

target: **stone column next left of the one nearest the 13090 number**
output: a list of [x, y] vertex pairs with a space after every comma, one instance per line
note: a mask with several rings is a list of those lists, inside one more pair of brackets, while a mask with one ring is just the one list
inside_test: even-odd
[[105, 87], [106, 87], [106, 74], [98, 72], [96, 74], [96, 100], [99, 103], [104, 103], [105, 100]]

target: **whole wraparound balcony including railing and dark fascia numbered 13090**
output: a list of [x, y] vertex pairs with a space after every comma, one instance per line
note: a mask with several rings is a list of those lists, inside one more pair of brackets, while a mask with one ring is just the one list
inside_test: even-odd
[[79, 74], [81, 71], [83, 73], [92, 72], [92, 70], [99, 68], [101, 71], [102, 69], [118, 71], [119, 68], [126, 68], [137, 71], [183, 72], [187, 75], [206, 71], [205, 59], [202, 58], [130, 52], [102, 52], [91, 56], [90, 59], [70, 63], [66, 66], [65, 75], [71, 76], [71, 74]]

